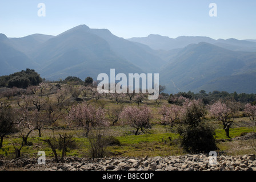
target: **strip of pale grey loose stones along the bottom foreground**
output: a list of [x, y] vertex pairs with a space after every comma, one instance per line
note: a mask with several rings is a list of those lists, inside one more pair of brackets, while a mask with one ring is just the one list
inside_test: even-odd
[[256, 171], [255, 155], [217, 156], [217, 164], [204, 154], [148, 158], [66, 158], [63, 163], [46, 159], [0, 160], [0, 170], [30, 171]]

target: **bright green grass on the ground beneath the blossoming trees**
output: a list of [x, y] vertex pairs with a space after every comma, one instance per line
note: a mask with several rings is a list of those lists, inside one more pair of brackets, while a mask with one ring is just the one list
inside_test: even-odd
[[[130, 129], [129, 127], [114, 126], [111, 127], [109, 132], [117, 131], [115, 136], [119, 140], [121, 146], [109, 146], [107, 148], [108, 156], [170, 156], [170, 155], [183, 155], [186, 154], [179, 147], [178, 138], [179, 135], [175, 133], [165, 133], [165, 129], [161, 125], [155, 125], [151, 129], [146, 130], [145, 134], [140, 133], [139, 135], [133, 135], [132, 132], [125, 129]], [[230, 129], [230, 137], [239, 137], [242, 133], [249, 133], [254, 129], [251, 127], [236, 127]], [[121, 132], [122, 131], [122, 132]], [[126, 132], [125, 132], [126, 131]], [[72, 133], [74, 134], [74, 140], [76, 147], [74, 149], [69, 149], [66, 152], [66, 156], [78, 156], [78, 157], [89, 157], [87, 146], [89, 141], [87, 138], [82, 136], [82, 131], [73, 131], [73, 130], [59, 130], [54, 131], [56, 137], [58, 133]], [[130, 135], [123, 135], [121, 133], [129, 133]], [[215, 130], [216, 139], [227, 139], [225, 131], [222, 129]], [[34, 131], [31, 134], [31, 137], [28, 139], [30, 146], [24, 146], [22, 148], [22, 156], [28, 157], [37, 157], [38, 151], [45, 151], [48, 158], [53, 158], [53, 152], [51, 148], [47, 146], [42, 139], [47, 139], [49, 136], [52, 136], [51, 131], [45, 130], [42, 133], [42, 137], [37, 136], [37, 131]], [[48, 135], [48, 136], [47, 136]], [[172, 143], [169, 140], [171, 137]], [[3, 156], [6, 159], [14, 159], [14, 147], [13, 144], [21, 143], [21, 138], [18, 138], [17, 135], [10, 136], [3, 140], [3, 147], [0, 149], [0, 156]], [[237, 146], [238, 145], [238, 146]], [[254, 153], [248, 142], [219, 142], [218, 147], [221, 151], [226, 151], [229, 155], [238, 155], [238, 154], [248, 154], [248, 152]], [[237, 150], [234, 150], [237, 148]], [[58, 155], [61, 155], [61, 150], [57, 150]]]

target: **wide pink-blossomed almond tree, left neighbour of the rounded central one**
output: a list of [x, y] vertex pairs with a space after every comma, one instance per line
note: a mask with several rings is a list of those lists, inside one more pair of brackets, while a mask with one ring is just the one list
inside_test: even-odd
[[105, 118], [106, 110], [94, 105], [87, 105], [86, 103], [74, 105], [66, 117], [69, 121], [73, 121], [75, 126], [83, 127], [88, 137], [89, 131], [94, 127], [108, 126], [109, 123]]

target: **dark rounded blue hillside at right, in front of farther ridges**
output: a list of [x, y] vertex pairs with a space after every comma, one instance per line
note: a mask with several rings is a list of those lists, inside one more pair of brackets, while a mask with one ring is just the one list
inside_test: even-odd
[[[189, 90], [197, 92], [202, 88], [204, 90], [222, 90], [223, 86], [234, 88], [232, 82], [230, 84], [225, 82], [226, 85], [217, 82], [223, 83], [222, 77], [238, 78], [241, 74], [254, 72], [256, 72], [256, 53], [230, 51], [209, 43], [199, 43], [191, 44], [179, 51], [178, 55], [160, 71], [160, 78], [168, 92]], [[243, 81], [239, 82], [242, 85], [237, 84], [237, 90], [242, 90], [243, 85], [248, 85], [245, 75], [242, 78]], [[212, 85], [213, 83], [215, 86]], [[256, 86], [254, 88], [256, 89]]]

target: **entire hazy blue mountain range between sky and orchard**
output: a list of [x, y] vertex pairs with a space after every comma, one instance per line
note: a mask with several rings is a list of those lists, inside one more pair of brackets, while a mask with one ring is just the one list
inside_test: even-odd
[[57, 36], [0, 34], [0, 75], [35, 69], [47, 80], [99, 73], [159, 73], [166, 93], [256, 93], [256, 40], [161, 35], [123, 39], [80, 25]]

